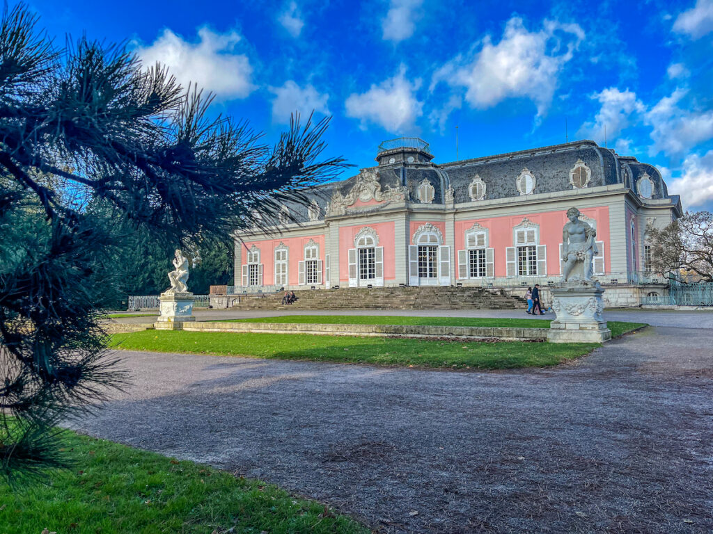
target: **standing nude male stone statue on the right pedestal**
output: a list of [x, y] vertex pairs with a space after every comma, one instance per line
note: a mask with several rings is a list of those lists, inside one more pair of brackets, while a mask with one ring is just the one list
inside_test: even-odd
[[589, 224], [579, 220], [577, 208], [567, 210], [570, 221], [562, 229], [563, 281], [591, 281], [593, 258], [597, 251], [595, 238], [597, 231]]

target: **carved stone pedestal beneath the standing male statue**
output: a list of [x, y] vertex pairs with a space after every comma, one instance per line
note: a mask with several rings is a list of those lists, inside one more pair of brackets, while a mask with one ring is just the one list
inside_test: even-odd
[[598, 282], [563, 282], [550, 289], [557, 318], [547, 339], [553, 343], [601, 343], [612, 338], [604, 320], [604, 290]]

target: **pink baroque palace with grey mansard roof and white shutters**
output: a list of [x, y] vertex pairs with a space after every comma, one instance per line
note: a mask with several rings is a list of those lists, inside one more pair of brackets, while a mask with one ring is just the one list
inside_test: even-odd
[[661, 173], [592, 141], [434, 164], [426, 142], [379, 145], [376, 167], [283, 206], [235, 239], [235, 292], [546, 285], [560, 277], [566, 211], [597, 231], [595, 277], [650, 275], [648, 224], [682, 215]]

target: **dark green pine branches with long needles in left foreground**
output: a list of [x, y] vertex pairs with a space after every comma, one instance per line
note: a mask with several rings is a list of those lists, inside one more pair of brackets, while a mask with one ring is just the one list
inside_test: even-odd
[[165, 68], [86, 39], [60, 50], [37, 22], [20, 5], [0, 27], [0, 461], [15, 480], [62, 465], [52, 426], [124, 379], [96, 309], [117, 234], [88, 199], [166, 244], [227, 242], [344, 166], [318, 159], [327, 120], [260, 145]]

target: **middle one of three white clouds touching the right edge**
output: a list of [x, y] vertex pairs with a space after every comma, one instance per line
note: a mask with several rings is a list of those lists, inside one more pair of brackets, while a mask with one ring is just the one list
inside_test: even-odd
[[650, 155], [665, 152], [681, 155], [699, 142], [713, 138], [713, 110], [684, 110], [679, 102], [687, 90], [677, 88], [659, 100], [645, 115], [647, 124], [653, 127], [651, 138], [654, 144]]

